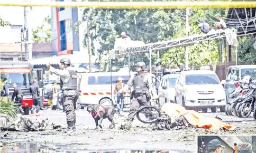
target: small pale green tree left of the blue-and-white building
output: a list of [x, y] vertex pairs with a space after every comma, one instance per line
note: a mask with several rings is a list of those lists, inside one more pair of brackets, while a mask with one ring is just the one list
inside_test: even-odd
[[[39, 32], [45, 33], [47, 37], [41, 38], [38, 36]], [[35, 30], [33, 30], [33, 41], [36, 43], [51, 42], [51, 18], [49, 15], [44, 18], [41, 26], [38, 26]]]

